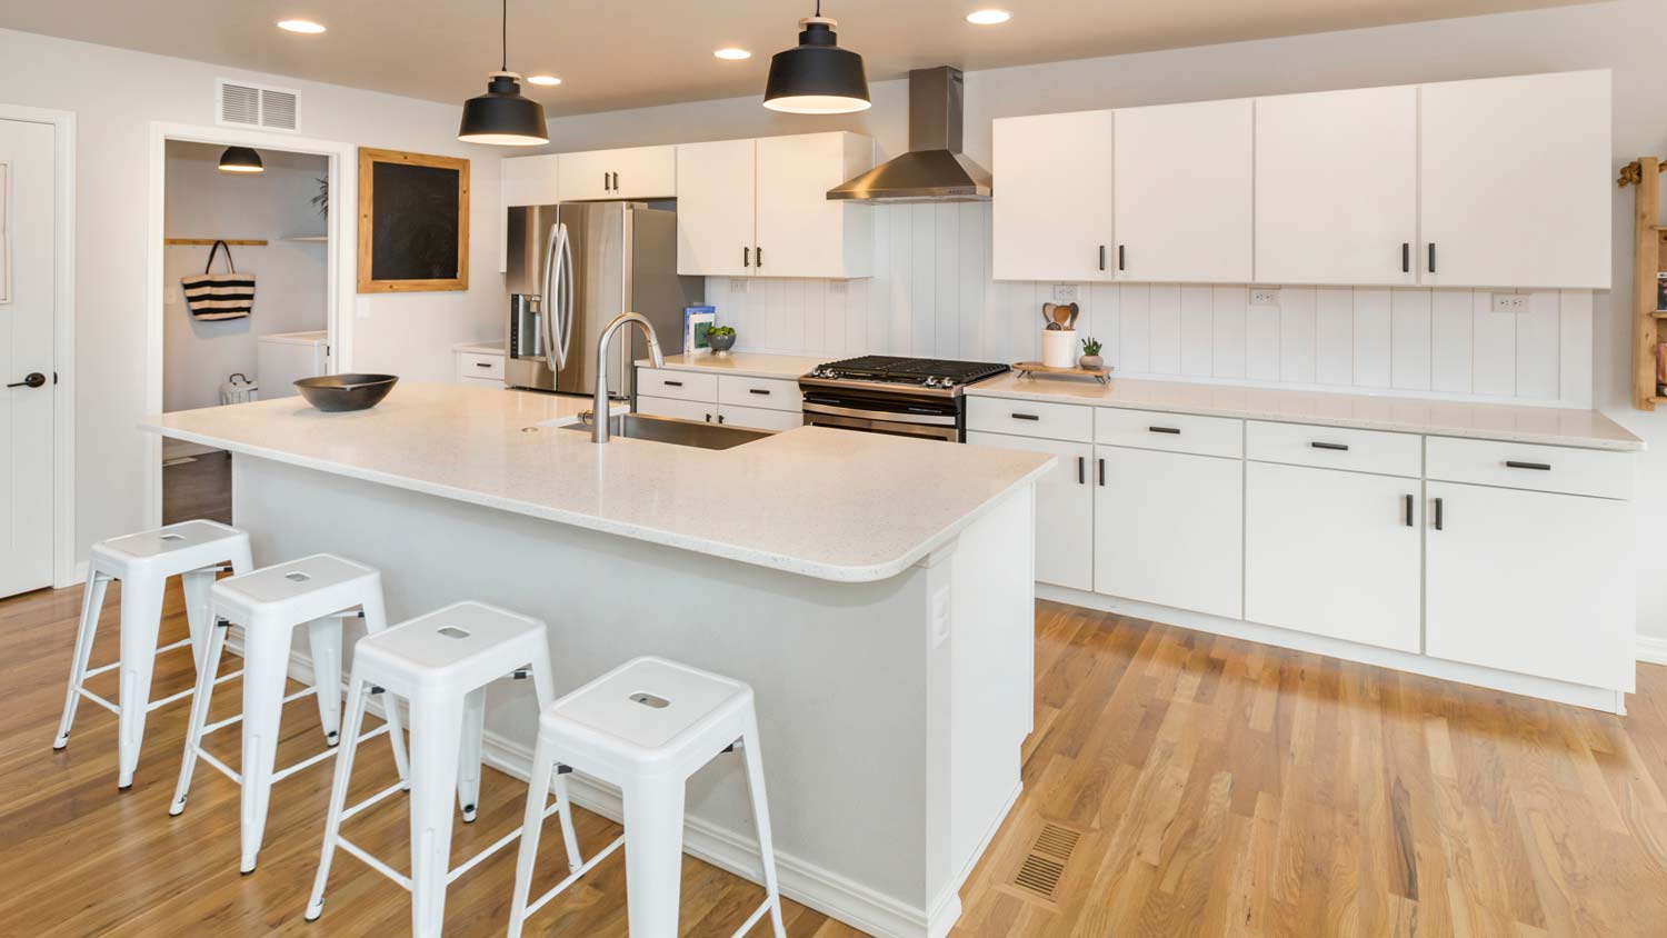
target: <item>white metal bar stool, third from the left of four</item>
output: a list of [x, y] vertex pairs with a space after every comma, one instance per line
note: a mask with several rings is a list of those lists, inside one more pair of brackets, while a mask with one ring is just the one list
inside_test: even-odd
[[[323, 830], [323, 855], [313, 880], [307, 921], [323, 913], [323, 888], [330, 878], [335, 848], [352, 853], [372, 870], [412, 893], [412, 935], [437, 938], [445, 916], [447, 886], [477, 863], [508, 846], [520, 831], [448, 868], [452, 858], [452, 791], [457, 790], [463, 820], [475, 820], [480, 798], [480, 743], [485, 723], [485, 690], [503, 676], [532, 676], [540, 710], [555, 698], [550, 676], [550, 641], [542, 621], [485, 603], [457, 603], [370, 635], [353, 646], [353, 673], [347, 693], [348, 745], [335, 765], [330, 815]], [[365, 700], [387, 691], [410, 703], [412, 780], [410, 838], [412, 871], [402, 876], [363, 848], [342, 836], [342, 821], [393, 795], [385, 788], [357, 805], [347, 805], [353, 771], [353, 736], [365, 713]], [[388, 710], [393, 705], [388, 703]], [[578, 845], [567, 805], [567, 788], [557, 785], [562, 838], [568, 866], [578, 868]], [[538, 820], [550, 813], [540, 811]]]

